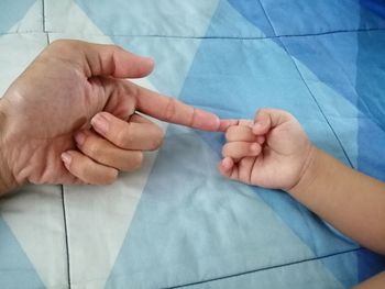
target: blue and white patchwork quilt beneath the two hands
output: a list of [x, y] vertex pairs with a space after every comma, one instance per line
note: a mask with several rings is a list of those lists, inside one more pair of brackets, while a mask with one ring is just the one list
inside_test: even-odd
[[[114, 43], [155, 59], [140, 85], [222, 118], [287, 110], [385, 180], [384, 2], [1, 0], [0, 95], [57, 38]], [[385, 270], [288, 194], [221, 177], [223, 134], [162, 125], [112, 186], [0, 200], [0, 288], [350, 288]]]

